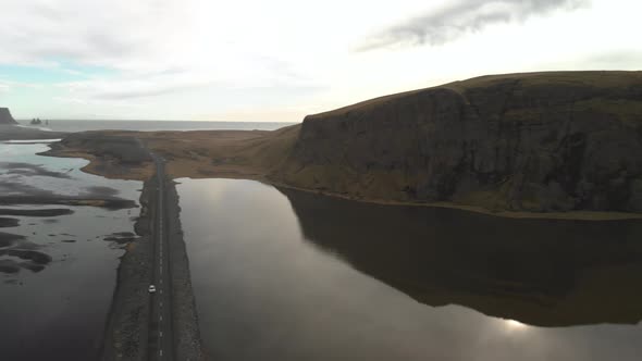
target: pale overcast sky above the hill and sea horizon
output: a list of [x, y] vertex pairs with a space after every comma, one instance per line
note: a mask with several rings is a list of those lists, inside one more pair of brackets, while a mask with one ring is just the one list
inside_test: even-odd
[[2, 0], [16, 119], [300, 122], [485, 74], [641, 70], [639, 0]]

